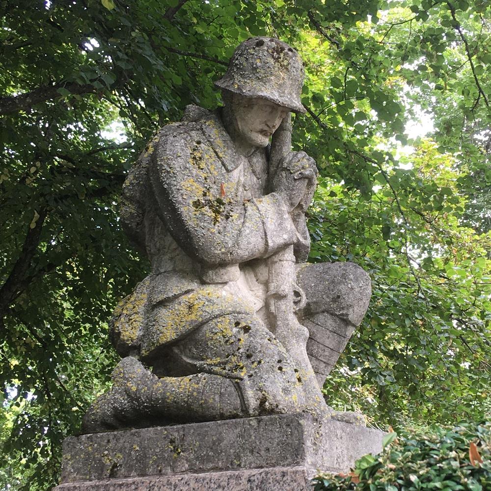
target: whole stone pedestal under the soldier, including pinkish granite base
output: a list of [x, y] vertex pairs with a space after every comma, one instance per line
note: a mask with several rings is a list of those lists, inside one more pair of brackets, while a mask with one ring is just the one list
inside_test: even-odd
[[316, 470], [380, 452], [382, 436], [305, 414], [71, 436], [54, 491], [307, 491]]

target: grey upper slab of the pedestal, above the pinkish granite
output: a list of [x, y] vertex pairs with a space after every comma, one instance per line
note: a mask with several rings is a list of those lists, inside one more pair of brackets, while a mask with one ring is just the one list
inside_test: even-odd
[[69, 437], [61, 483], [163, 475], [177, 482], [182, 474], [280, 467], [338, 472], [380, 451], [382, 435], [332, 419], [319, 424], [309, 415], [285, 414]]

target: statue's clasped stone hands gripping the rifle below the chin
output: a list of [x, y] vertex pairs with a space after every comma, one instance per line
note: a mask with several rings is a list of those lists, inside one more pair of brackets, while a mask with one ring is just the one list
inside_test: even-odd
[[273, 179], [273, 191], [283, 195], [291, 210], [300, 204], [304, 211], [312, 199], [317, 174], [314, 159], [305, 152], [290, 152], [280, 162]]

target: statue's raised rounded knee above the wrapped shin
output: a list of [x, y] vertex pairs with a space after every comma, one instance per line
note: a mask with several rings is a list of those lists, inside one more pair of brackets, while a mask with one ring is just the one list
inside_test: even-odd
[[297, 273], [307, 315], [328, 312], [358, 326], [372, 295], [370, 276], [355, 263], [316, 263]]

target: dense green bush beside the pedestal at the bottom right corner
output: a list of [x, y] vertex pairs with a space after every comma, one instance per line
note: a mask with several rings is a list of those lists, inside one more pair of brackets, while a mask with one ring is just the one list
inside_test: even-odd
[[365, 455], [350, 474], [320, 475], [314, 484], [314, 491], [490, 491], [491, 422], [390, 433], [380, 455]]

